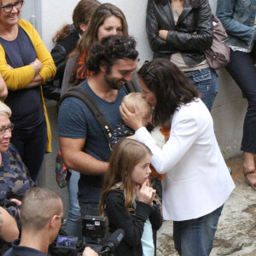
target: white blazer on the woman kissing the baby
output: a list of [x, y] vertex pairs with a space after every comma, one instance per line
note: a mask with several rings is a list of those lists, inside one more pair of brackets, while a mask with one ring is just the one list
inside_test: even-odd
[[170, 138], [162, 149], [145, 127], [135, 137], [150, 148], [155, 170], [166, 173], [162, 181], [164, 219], [207, 215], [222, 206], [235, 188], [218, 148], [212, 116], [200, 99], [175, 111]]

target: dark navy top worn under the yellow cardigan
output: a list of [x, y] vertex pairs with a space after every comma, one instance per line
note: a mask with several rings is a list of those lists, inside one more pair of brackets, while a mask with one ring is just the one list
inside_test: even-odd
[[[4, 49], [7, 63], [13, 68], [29, 65], [37, 58], [31, 39], [20, 26], [15, 40], [8, 41], [0, 38], [0, 44]], [[44, 120], [40, 86], [9, 90], [4, 103], [12, 110], [10, 119], [15, 124], [15, 128], [30, 129]]]

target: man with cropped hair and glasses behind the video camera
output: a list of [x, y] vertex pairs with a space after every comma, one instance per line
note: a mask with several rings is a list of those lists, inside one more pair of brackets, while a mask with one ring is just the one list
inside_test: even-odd
[[[61, 198], [54, 191], [33, 188], [26, 191], [20, 207], [21, 238], [3, 256], [45, 256], [63, 222]], [[96, 256], [86, 248], [84, 256]]]

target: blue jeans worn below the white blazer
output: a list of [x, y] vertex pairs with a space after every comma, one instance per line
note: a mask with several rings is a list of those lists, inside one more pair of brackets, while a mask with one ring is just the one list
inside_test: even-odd
[[218, 218], [224, 206], [200, 218], [173, 221], [175, 248], [182, 256], [208, 256], [213, 247]]

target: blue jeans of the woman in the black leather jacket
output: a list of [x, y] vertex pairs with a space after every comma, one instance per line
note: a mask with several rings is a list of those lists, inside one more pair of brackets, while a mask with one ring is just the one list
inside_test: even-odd
[[218, 94], [217, 73], [211, 68], [203, 68], [186, 73], [186, 76], [195, 84], [201, 93], [201, 100], [211, 112], [212, 104]]

